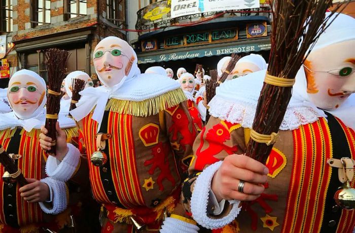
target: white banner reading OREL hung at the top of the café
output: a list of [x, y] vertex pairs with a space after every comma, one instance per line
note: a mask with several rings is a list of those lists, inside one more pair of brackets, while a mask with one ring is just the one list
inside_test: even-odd
[[171, 18], [203, 12], [259, 7], [259, 0], [171, 0]]

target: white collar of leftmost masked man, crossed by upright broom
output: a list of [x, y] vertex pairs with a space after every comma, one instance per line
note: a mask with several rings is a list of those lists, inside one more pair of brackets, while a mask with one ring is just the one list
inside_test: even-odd
[[[61, 129], [77, 127], [73, 119], [65, 117], [63, 114], [59, 114], [59, 126]], [[8, 112], [0, 114], [0, 130], [14, 129], [15, 127], [22, 127], [27, 132], [30, 132], [32, 129], [41, 129], [41, 126], [46, 123], [46, 109], [43, 108], [43, 111], [27, 120], [18, 119], [15, 113]]]

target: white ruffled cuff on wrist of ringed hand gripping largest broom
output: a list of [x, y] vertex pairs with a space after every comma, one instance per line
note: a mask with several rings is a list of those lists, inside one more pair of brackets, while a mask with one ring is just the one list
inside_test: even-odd
[[209, 189], [212, 177], [220, 168], [221, 164], [222, 161], [219, 161], [203, 170], [195, 181], [195, 187], [191, 197], [191, 212], [194, 220], [201, 226], [209, 229], [217, 229], [227, 225], [237, 217], [240, 211], [238, 207], [240, 201], [233, 200], [229, 201], [230, 205], [232, 205], [232, 209], [227, 216], [220, 219], [212, 219], [207, 215]]

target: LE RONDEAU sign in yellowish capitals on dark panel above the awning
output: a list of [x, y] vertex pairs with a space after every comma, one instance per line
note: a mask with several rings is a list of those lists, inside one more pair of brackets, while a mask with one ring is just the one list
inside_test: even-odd
[[167, 37], [164, 40], [164, 48], [192, 46], [197, 44], [219, 43], [238, 40], [238, 29], [229, 28], [223, 30], [188, 33], [185, 35]]

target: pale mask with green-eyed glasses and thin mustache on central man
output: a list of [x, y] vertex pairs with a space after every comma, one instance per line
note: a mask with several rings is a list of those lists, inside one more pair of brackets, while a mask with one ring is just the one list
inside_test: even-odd
[[136, 55], [127, 42], [115, 36], [105, 37], [94, 50], [94, 66], [101, 83], [107, 87], [119, 84], [128, 75]]

